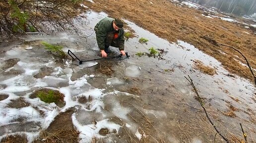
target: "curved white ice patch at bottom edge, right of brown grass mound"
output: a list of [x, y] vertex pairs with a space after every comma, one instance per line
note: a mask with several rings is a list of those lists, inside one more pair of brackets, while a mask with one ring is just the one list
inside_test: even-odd
[[97, 121], [96, 125], [94, 124], [81, 125], [77, 121], [75, 117], [75, 113], [72, 115], [72, 122], [73, 122], [73, 125], [76, 127], [76, 129], [80, 132], [79, 134], [79, 138], [81, 139], [80, 143], [91, 143], [93, 137], [102, 138], [103, 136], [99, 134], [100, 129], [107, 128], [109, 129], [110, 132], [113, 132], [114, 130], [118, 132], [121, 127], [118, 124], [109, 122], [108, 119]]

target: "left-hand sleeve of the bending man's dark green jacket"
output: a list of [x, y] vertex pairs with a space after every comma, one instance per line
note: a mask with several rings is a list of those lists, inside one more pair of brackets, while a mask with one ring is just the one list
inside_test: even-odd
[[107, 35], [107, 31], [106, 31], [104, 23], [100, 23], [99, 26], [94, 30], [96, 31], [96, 40], [97, 40], [98, 47], [101, 50], [104, 50], [105, 38]]

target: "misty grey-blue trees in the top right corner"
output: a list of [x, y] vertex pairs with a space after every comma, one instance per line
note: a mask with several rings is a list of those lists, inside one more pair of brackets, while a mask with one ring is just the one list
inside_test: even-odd
[[191, 1], [216, 10], [237, 16], [249, 16], [256, 19], [256, 0], [182, 0]]

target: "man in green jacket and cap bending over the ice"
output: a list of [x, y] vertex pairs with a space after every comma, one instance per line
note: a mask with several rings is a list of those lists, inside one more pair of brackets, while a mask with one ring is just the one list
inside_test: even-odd
[[94, 30], [98, 47], [101, 50], [102, 57], [107, 57], [109, 46], [119, 48], [123, 55], [126, 55], [125, 49], [125, 30], [123, 29], [124, 22], [120, 18], [106, 17], [100, 20]]

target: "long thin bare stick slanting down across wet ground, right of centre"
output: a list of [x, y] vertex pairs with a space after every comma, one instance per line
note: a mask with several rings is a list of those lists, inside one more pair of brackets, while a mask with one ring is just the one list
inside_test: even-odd
[[189, 76], [190, 80], [189, 80], [187, 77], [185, 77], [185, 78], [186, 78], [186, 79], [190, 82], [190, 84], [192, 85], [192, 87], [193, 87], [193, 89], [194, 89], [194, 92], [195, 92], [195, 94], [197, 95], [198, 100], [199, 100], [199, 102], [200, 102], [200, 105], [201, 105], [201, 107], [203, 108], [204, 113], [205, 113], [206, 117], [208, 118], [208, 120], [210, 121], [211, 125], [214, 127], [215, 131], [216, 131], [227, 143], [230, 143], [229, 140], [219, 132], [219, 130], [216, 128], [216, 126], [214, 125], [214, 123], [212, 122], [212, 120], [210, 119], [210, 117], [208, 116], [208, 113], [207, 113], [207, 111], [206, 111], [206, 109], [205, 109], [205, 107], [204, 107], [204, 105], [203, 105], [203, 102], [202, 102], [202, 100], [201, 100], [199, 94], [197, 93], [197, 90], [196, 90], [196, 88], [195, 88], [195, 86], [194, 86], [194, 84], [193, 84], [193, 81], [192, 81], [192, 79], [190, 78], [190, 76]]

